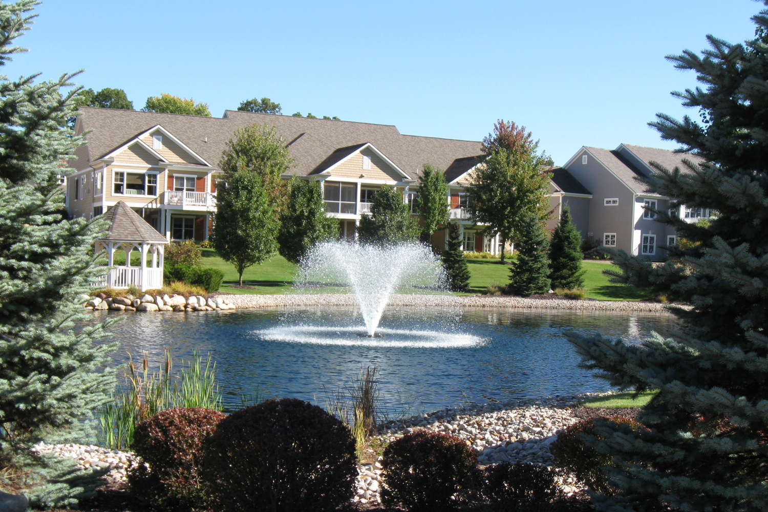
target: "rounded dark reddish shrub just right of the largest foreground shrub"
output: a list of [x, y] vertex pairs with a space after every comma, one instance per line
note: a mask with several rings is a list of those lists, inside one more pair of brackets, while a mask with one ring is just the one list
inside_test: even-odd
[[450, 510], [468, 500], [477, 457], [455, 436], [415, 431], [387, 445], [382, 464], [387, 507]]

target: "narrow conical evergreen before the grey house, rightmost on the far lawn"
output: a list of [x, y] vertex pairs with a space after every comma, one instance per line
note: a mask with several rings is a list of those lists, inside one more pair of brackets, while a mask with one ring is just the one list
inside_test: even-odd
[[549, 245], [549, 262], [552, 289], [577, 289], [584, 286], [584, 272], [581, 269], [581, 233], [571, 222], [571, 209], [563, 206], [558, 227], [554, 228]]

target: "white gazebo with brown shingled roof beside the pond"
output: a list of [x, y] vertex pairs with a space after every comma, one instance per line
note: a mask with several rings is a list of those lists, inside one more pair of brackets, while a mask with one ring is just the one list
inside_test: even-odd
[[[112, 206], [104, 218], [110, 223], [109, 233], [95, 243], [96, 252], [107, 252], [111, 267], [104, 281], [99, 283], [108, 288], [136, 286], [142, 292], [163, 286], [163, 255], [167, 239], [152, 227], [131, 206], [121, 201]], [[131, 253], [137, 250], [141, 257], [138, 266], [131, 266]], [[114, 266], [114, 254], [125, 252], [125, 264]]]

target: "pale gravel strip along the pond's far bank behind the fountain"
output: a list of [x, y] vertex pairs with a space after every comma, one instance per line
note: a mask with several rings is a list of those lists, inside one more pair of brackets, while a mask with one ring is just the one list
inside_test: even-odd
[[[276, 306], [355, 306], [348, 293], [287, 293], [284, 295], [219, 295], [237, 309]], [[467, 308], [572, 309], [581, 311], [667, 312], [670, 306], [659, 302], [525, 299], [509, 296], [451, 296], [400, 293], [392, 295], [389, 306], [452, 306]], [[685, 307], [685, 306], [683, 306]]]

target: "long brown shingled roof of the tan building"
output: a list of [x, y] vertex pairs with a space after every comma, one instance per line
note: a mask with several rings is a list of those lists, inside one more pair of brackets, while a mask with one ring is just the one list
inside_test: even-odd
[[403, 135], [387, 124], [241, 111], [226, 111], [224, 117], [199, 117], [81, 107], [79, 115], [78, 131], [91, 133], [85, 135], [88, 144], [78, 148], [78, 159], [71, 163], [78, 170], [157, 124], [214, 166], [237, 128], [252, 124], [274, 126], [296, 159], [296, 167], [289, 172], [300, 175], [312, 173], [339, 148], [366, 142], [414, 179], [419, 177], [424, 164], [447, 169], [456, 159], [482, 153], [479, 141]]

